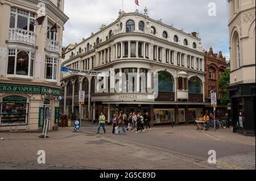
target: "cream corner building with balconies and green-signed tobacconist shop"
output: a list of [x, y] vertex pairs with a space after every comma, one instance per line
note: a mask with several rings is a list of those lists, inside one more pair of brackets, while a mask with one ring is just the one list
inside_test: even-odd
[[63, 11], [64, 0], [0, 2], [0, 131], [40, 131], [47, 110], [49, 129], [57, 125]]

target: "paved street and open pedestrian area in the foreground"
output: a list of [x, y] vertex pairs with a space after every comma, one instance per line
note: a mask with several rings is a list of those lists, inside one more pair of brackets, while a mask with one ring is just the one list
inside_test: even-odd
[[[153, 127], [145, 133], [115, 136], [111, 127], [96, 135], [97, 125], [39, 133], [0, 133], [1, 169], [255, 169], [255, 137], [230, 129], [196, 131], [193, 125]], [[46, 164], [37, 163], [38, 150], [46, 151]], [[210, 165], [208, 151], [215, 150], [217, 164]]]

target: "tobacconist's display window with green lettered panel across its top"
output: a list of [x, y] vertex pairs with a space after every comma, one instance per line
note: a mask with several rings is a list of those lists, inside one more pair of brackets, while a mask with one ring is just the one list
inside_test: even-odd
[[26, 125], [27, 120], [27, 98], [18, 95], [11, 95], [3, 98], [1, 103], [0, 126]]

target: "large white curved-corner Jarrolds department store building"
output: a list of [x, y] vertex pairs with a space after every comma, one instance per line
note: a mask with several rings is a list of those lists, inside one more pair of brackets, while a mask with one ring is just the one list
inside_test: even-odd
[[[151, 19], [147, 9], [144, 14], [138, 10], [133, 13], [119, 11], [112, 24], [103, 24], [97, 33], [69, 45], [63, 66], [106, 72], [114, 69], [115, 74], [126, 75], [159, 73], [159, 95], [154, 100], [148, 99], [149, 92], [141, 91], [139, 76], [133, 80], [136, 88], [130, 92], [113, 91], [115, 82], [106, 81], [102, 87], [109, 87], [109, 92], [99, 93], [96, 89], [99, 80], [95, 77], [63, 74], [61, 111], [78, 113], [78, 94], [83, 90], [86, 92], [86, 104], [82, 107], [84, 120], [96, 120], [100, 111], [104, 111], [110, 122], [117, 110], [126, 114], [150, 112], [155, 124], [185, 123], [203, 115], [206, 105], [204, 49], [199, 33], [185, 33], [162, 20]], [[147, 77], [142, 82], [150, 87], [148, 80]]]

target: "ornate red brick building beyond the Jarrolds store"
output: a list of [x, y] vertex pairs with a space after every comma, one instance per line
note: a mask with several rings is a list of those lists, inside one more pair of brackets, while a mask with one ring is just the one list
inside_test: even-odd
[[226, 70], [226, 58], [222, 52], [213, 53], [212, 47], [209, 52], [205, 52], [205, 101], [210, 101], [210, 91], [217, 92], [218, 98], [221, 98], [218, 88], [218, 79]]

